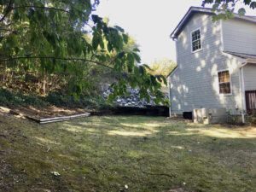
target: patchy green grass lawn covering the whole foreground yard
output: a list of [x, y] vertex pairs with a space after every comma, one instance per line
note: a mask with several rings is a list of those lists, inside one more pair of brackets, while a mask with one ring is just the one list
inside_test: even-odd
[[256, 191], [256, 128], [0, 114], [0, 191]]

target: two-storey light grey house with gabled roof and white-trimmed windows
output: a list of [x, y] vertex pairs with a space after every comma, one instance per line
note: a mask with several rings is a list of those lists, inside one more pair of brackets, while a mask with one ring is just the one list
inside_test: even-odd
[[256, 108], [256, 18], [212, 22], [213, 15], [191, 7], [171, 34], [177, 49], [177, 67], [168, 76], [171, 114]]

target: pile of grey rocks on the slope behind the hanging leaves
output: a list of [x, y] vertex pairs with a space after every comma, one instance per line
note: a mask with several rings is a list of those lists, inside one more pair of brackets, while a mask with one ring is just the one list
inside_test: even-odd
[[[102, 84], [102, 97], [108, 99], [108, 95], [113, 92], [113, 89], [109, 88], [109, 84]], [[149, 102], [145, 98], [140, 100], [139, 89], [127, 88], [129, 96], [118, 96], [117, 100], [113, 103], [119, 107], [136, 107], [136, 108], [146, 108], [147, 106], [156, 106], [154, 103], [155, 96], [152, 96], [149, 91], [150, 96]], [[166, 96], [168, 98], [168, 96]]]

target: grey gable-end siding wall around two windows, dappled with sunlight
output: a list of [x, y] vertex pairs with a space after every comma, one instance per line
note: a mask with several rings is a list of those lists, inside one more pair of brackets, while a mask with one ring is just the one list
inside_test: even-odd
[[[201, 27], [202, 50], [191, 52], [190, 32]], [[172, 113], [194, 108], [241, 108], [237, 59], [222, 54], [220, 21], [211, 15], [196, 14], [177, 38], [177, 71], [171, 75]], [[230, 69], [232, 95], [218, 94], [218, 71]]]

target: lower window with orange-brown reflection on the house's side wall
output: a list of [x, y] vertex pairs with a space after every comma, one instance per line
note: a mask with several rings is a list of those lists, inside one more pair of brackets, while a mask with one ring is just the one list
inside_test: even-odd
[[231, 94], [230, 71], [218, 72], [218, 87], [220, 94]]

